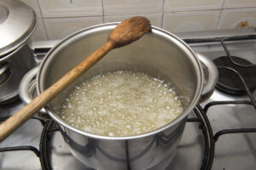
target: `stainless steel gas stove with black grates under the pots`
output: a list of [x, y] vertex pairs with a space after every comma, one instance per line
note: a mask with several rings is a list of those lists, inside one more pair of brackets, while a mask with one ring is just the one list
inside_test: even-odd
[[[177, 33], [177, 37], [216, 63], [219, 82], [211, 98], [197, 105], [189, 115], [171, 163], [162, 162], [157, 169], [255, 168], [255, 29], [186, 32]], [[32, 43], [38, 64], [57, 42]], [[226, 62], [229, 64], [224, 65]], [[0, 105], [0, 121], [22, 106], [20, 100]], [[1, 169], [91, 169], [72, 156], [54, 121], [38, 117], [32, 117], [5, 139], [0, 152]]]

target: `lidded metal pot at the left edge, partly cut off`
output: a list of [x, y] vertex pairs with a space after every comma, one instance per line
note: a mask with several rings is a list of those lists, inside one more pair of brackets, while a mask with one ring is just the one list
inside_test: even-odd
[[0, 104], [19, 97], [19, 85], [36, 65], [29, 38], [36, 26], [32, 8], [18, 0], [0, 0]]

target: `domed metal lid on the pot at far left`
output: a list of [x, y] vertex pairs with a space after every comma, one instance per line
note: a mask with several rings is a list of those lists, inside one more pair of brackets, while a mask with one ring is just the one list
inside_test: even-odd
[[0, 0], [0, 57], [20, 47], [36, 26], [33, 9], [18, 0]]

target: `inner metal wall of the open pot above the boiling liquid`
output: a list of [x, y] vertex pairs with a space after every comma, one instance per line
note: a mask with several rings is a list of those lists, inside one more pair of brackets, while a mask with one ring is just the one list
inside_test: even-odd
[[[107, 24], [91, 27], [56, 45], [47, 54], [38, 71], [39, 93], [107, 42], [108, 34], [115, 26]], [[60, 121], [61, 117], [55, 113], [61, 111], [61, 100], [67, 97], [75, 84], [100, 73], [119, 70], [143, 71], [172, 82], [172, 87], [181, 96], [184, 112], [191, 110], [201, 95], [201, 66], [195, 54], [177, 37], [154, 27], [137, 42], [113, 49], [93, 65], [49, 104], [49, 114]]]

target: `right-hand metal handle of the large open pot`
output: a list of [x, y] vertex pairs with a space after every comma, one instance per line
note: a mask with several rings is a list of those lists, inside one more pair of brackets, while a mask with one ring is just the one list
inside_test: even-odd
[[218, 82], [218, 69], [211, 59], [197, 53], [198, 58], [201, 60], [201, 65], [204, 71], [204, 88], [200, 102], [209, 99], [214, 91], [216, 83]]

